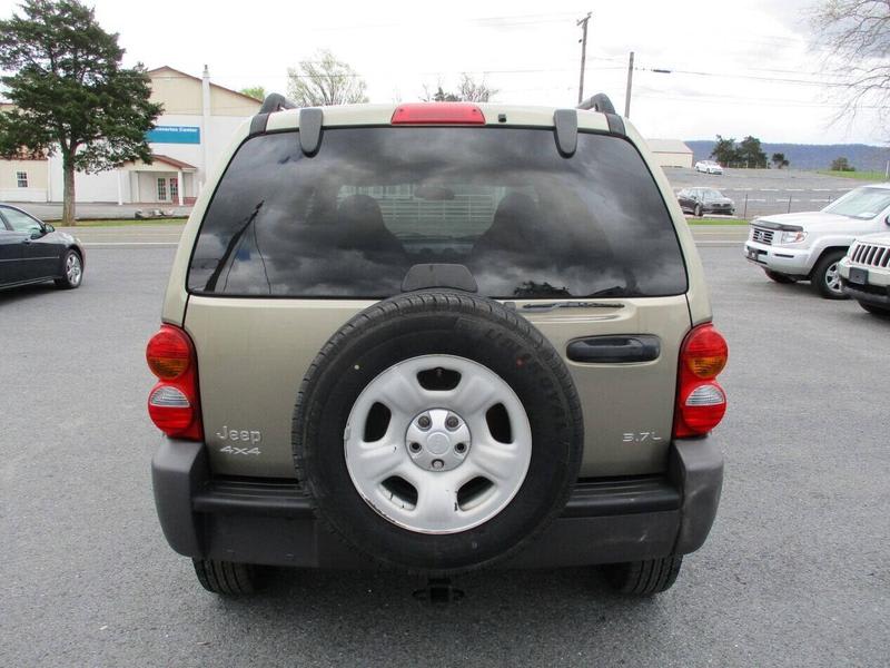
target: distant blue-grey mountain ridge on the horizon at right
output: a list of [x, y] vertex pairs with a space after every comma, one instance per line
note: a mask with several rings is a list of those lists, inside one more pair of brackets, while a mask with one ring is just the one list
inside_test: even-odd
[[[713, 139], [685, 141], [693, 161], [706, 160], [714, 148]], [[830, 169], [835, 158], [847, 158], [857, 171], [883, 171], [890, 160], [890, 148], [868, 144], [761, 144], [767, 159], [774, 153], [785, 154], [792, 169]], [[770, 164], [772, 166], [772, 164]]]

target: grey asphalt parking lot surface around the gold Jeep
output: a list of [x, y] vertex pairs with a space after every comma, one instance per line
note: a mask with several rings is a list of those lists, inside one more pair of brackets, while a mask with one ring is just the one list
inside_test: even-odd
[[[116, 243], [116, 242], [108, 242]], [[890, 322], [701, 248], [730, 343], [726, 479], [709, 542], [653, 599], [593, 570], [279, 572], [221, 600], [167, 547], [146, 340], [166, 245], [89, 248], [73, 292], [0, 293], [2, 666], [877, 666], [890, 659]]]

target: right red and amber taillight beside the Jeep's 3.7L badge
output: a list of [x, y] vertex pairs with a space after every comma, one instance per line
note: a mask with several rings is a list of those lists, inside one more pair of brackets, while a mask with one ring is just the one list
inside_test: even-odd
[[694, 327], [680, 350], [674, 438], [701, 436], [726, 412], [726, 393], [714, 379], [729, 357], [726, 340], [710, 323]]

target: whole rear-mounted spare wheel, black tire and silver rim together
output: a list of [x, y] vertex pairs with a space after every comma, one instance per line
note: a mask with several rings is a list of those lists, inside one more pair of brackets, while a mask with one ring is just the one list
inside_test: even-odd
[[493, 299], [438, 289], [344, 325], [294, 412], [319, 520], [417, 571], [487, 566], [531, 542], [565, 505], [583, 440], [574, 383], [541, 333]]

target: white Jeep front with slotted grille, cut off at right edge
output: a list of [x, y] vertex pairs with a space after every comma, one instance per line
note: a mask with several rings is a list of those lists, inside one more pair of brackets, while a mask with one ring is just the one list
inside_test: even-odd
[[846, 295], [869, 313], [890, 316], [890, 232], [859, 237], [839, 272]]

